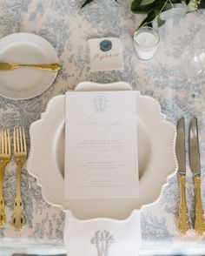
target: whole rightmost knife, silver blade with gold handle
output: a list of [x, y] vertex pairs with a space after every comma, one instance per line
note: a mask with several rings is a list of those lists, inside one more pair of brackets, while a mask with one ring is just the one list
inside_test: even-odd
[[201, 194], [201, 163], [198, 140], [197, 118], [192, 118], [189, 126], [189, 165], [195, 184], [195, 233], [202, 236], [205, 232]]

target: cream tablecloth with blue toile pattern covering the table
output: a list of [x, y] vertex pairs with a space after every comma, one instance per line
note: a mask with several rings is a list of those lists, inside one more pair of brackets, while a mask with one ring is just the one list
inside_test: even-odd
[[[54, 46], [63, 64], [54, 84], [40, 96], [21, 101], [0, 97], [1, 126], [12, 130], [14, 125], [23, 125], [29, 138], [30, 124], [41, 117], [50, 98], [85, 80], [129, 82], [142, 94], [157, 99], [162, 112], [173, 124], [183, 116], [188, 127], [189, 119], [197, 116], [205, 204], [205, 91], [197, 81], [196, 86], [186, 82], [182, 63], [183, 51], [203, 27], [204, 14], [188, 14], [174, 21], [169, 19], [160, 29], [161, 42], [155, 57], [143, 62], [136, 57], [133, 46], [133, 34], [143, 17], [130, 11], [130, 1], [119, 2], [95, 1], [80, 10], [80, 0], [0, 0], [0, 37], [15, 32], [36, 33]], [[122, 40], [124, 69], [90, 72], [88, 39], [109, 36]], [[187, 169], [188, 212], [193, 221], [193, 182], [189, 167]], [[0, 230], [0, 255], [10, 255], [11, 252], [64, 253], [64, 213], [43, 200], [41, 188], [28, 174], [26, 166], [22, 179], [27, 225], [22, 232], [15, 232], [10, 226], [16, 189], [16, 166], [12, 159], [4, 176], [8, 223]], [[197, 255], [204, 251], [204, 239], [195, 237], [194, 233], [182, 238], [177, 232], [178, 203], [179, 188], [174, 175], [168, 179], [160, 199], [154, 205], [142, 207], [142, 255], [155, 252], [158, 255], [162, 252], [161, 255], [173, 252]]]

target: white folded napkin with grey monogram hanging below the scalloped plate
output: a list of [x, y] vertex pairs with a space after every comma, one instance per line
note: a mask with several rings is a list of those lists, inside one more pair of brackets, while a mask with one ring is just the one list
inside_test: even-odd
[[137, 256], [141, 245], [140, 211], [125, 220], [76, 219], [66, 212], [63, 234], [67, 256]]

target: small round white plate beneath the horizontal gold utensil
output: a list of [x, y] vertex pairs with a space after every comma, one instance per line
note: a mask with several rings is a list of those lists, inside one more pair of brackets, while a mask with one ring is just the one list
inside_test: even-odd
[[[43, 37], [16, 33], [0, 39], [0, 62], [15, 64], [58, 63], [53, 46]], [[33, 98], [45, 91], [57, 72], [34, 68], [0, 71], [0, 94], [6, 98]]]

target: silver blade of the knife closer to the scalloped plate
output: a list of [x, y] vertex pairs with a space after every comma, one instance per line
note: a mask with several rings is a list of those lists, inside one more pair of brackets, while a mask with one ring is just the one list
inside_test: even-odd
[[184, 118], [179, 119], [176, 126], [175, 154], [178, 162], [178, 173], [186, 173], [186, 148]]

